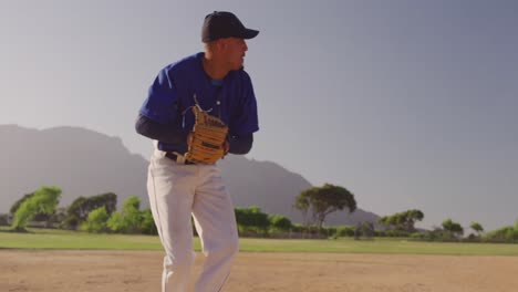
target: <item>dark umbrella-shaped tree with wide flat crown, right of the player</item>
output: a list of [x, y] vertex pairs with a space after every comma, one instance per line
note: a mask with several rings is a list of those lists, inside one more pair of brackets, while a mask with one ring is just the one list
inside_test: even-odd
[[344, 208], [353, 212], [356, 210], [356, 201], [348, 189], [325, 184], [323, 187], [303, 190], [296, 198], [294, 208], [301, 210], [303, 215], [311, 213], [312, 222], [321, 229], [328, 215]]

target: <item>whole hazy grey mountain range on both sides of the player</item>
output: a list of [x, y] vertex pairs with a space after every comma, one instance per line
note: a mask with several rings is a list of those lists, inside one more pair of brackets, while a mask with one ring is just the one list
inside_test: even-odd
[[[148, 207], [147, 160], [124, 147], [121, 138], [79, 127], [31, 129], [0, 125], [0, 212], [8, 212], [24, 194], [43, 185], [62, 189], [60, 206], [79, 196], [115, 192], [118, 202], [131, 195]], [[299, 174], [276, 163], [229, 155], [220, 161], [221, 173], [235, 206], [258, 206], [265, 212], [280, 213], [294, 222], [300, 212], [292, 208], [294, 197], [311, 184]], [[360, 198], [359, 205], [361, 205]], [[376, 215], [358, 209], [329, 216], [328, 225], [375, 221]]]

